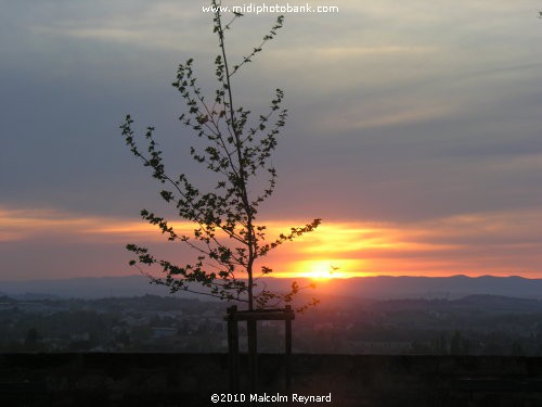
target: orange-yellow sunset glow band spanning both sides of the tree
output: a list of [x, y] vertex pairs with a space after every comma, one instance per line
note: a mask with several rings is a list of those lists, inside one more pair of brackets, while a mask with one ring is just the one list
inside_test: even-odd
[[[521, 276], [542, 278], [539, 250], [539, 212], [464, 214], [416, 224], [325, 221], [313, 232], [294, 239], [258, 260], [273, 269], [269, 277], [345, 279], [371, 276], [470, 277]], [[263, 220], [272, 242], [296, 220]], [[170, 222], [179, 234], [191, 234], [194, 225]], [[0, 206], [0, 242], [13, 247], [29, 243], [40, 247], [113, 247], [126, 255], [127, 243], [147, 245], [172, 262], [185, 262], [190, 247], [168, 242], [156, 226], [128, 219], [88, 216], [57, 209], [9, 209]], [[101, 247], [101, 249], [99, 249]], [[64, 250], [64, 249], [62, 249]], [[108, 249], [107, 249], [108, 250]], [[115, 252], [117, 253], [117, 252]], [[127, 262], [96, 257], [96, 276], [130, 270]], [[43, 272], [56, 272], [43, 264]], [[69, 270], [66, 269], [65, 272]], [[64, 272], [64, 270], [59, 270]], [[257, 274], [256, 274], [257, 275]]]

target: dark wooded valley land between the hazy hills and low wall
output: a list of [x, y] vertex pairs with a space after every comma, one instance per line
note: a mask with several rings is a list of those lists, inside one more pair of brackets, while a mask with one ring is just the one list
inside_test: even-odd
[[[2, 296], [0, 352], [227, 352], [225, 306], [155, 295]], [[282, 330], [279, 322], [262, 322], [260, 351], [281, 352]], [[492, 295], [453, 301], [324, 297], [317, 309], [297, 316], [294, 351], [540, 356], [542, 302]]]

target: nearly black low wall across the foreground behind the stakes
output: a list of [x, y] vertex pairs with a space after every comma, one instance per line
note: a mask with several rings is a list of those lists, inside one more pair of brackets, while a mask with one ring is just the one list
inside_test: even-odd
[[[211, 403], [228, 378], [218, 354], [5, 354], [0, 406], [249, 406], [247, 390], [238, 403]], [[542, 358], [295, 354], [291, 390], [283, 378], [283, 356], [260, 355], [253, 405], [542, 406]]]

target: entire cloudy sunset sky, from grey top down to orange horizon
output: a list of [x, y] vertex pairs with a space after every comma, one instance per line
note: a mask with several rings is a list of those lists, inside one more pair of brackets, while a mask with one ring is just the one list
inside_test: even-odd
[[[233, 84], [256, 115], [275, 88], [289, 111], [261, 221], [272, 234], [323, 219], [269, 257], [276, 275], [542, 278], [542, 3], [309, 4], [339, 11], [286, 13]], [[214, 89], [202, 5], [0, 0], [0, 280], [131, 275], [126, 243], [188, 255], [140, 220], [171, 211], [118, 127], [128, 113], [154, 125], [171, 171], [208, 179], [170, 86], [193, 58]], [[231, 60], [275, 18], [238, 20]]]

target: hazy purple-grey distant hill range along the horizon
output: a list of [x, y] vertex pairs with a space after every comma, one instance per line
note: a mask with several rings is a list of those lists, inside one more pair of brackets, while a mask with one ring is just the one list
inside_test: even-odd
[[[268, 289], [287, 290], [292, 279], [269, 278]], [[296, 279], [300, 285], [311, 281]], [[0, 295], [39, 297], [126, 297], [145, 294], [168, 295], [166, 287], [150, 284], [142, 276], [76, 278], [65, 280], [1, 281]], [[311, 293], [312, 294], [312, 293]], [[542, 280], [521, 277], [361, 277], [317, 282], [313, 294], [333, 297], [372, 300], [461, 298], [468, 295], [501, 295], [516, 298], [541, 298]], [[179, 293], [186, 298], [203, 296]]]

